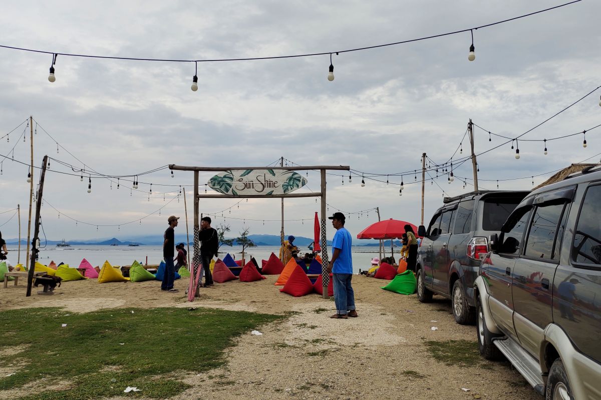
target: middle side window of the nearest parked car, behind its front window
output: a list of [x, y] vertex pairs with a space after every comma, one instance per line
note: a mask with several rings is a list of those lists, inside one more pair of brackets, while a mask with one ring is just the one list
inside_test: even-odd
[[525, 240], [524, 255], [528, 257], [552, 259], [557, 226], [565, 203], [536, 207], [532, 224]]

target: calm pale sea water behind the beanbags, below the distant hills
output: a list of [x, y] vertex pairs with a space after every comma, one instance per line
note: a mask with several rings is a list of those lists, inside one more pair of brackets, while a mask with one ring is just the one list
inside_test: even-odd
[[[190, 247], [190, 258], [192, 258], [192, 246]], [[308, 252], [309, 250], [306, 249]], [[242, 246], [222, 246], [219, 249], [219, 257], [225, 257], [225, 254], [230, 253], [235, 256], [236, 260], [242, 257]], [[259, 266], [261, 260], [267, 260], [269, 255], [274, 252], [279, 255], [279, 246], [256, 246], [246, 248], [245, 258], [250, 260], [255, 257]], [[304, 254], [305, 249], [301, 249], [301, 254]], [[353, 246], [353, 272], [358, 273], [359, 270], [365, 270], [370, 267], [372, 257], [379, 257], [377, 246]], [[329, 258], [332, 258], [332, 249], [328, 248]], [[389, 249], [386, 255], [389, 254]], [[25, 261], [25, 246], [21, 246], [20, 261]], [[94, 245], [73, 245], [70, 247], [46, 246], [40, 249], [38, 261], [42, 264], [49, 264], [54, 261], [56, 264], [65, 263], [72, 267], [78, 267], [82, 259], [90, 261], [93, 266], [100, 266], [108, 260], [112, 265], [131, 265], [134, 260], [139, 263], [159, 264], [163, 259], [162, 246], [94, 246]], [[395, 254], [398, 259], [398, 253]], [[8, 260], [13, 265], [17, 264], [17, 249], [12, 245], [9, 248]]]

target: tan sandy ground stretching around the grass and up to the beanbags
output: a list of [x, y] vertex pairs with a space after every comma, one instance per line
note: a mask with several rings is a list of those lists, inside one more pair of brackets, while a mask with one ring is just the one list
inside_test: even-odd
[[[177, 294], [160, 291], [157, 281], [98, 284], [90, 279], [64, 282], [54, 296], [38, 296], [34, 288], [30, 297], [25, 297], [24, 285], [14, 287], [9, 282], [8, 288], [0, 287], [0, 309], [47, 306], [89, 312], [195, 306], [270, 314], [296, 311], [284, 323], [261, 327], [261, 336], [250, 332], [241, 336], [228, 351], [223, 368], [186, 376], [184, 380], [192, 387], [174, 400], [540, 399], [507, 362], [460, 368], [430, 356], [425, 341], [476, 341], [474, 326], [455, 323], [448, 300], [435, 296], [432, 303], [422, 304], [415, 294], [403, 296], [380, 289], [388, 281], [355, 276], [359, 317], [334, 320], [329, 318], [335, 312], [332, 300], [317, 294], [288, 296], [273, 285], [275, 280], [272, 275], [260, 282], [216, 284], [202, 289], [194, 303], [186, 302], [187, 279], [175, 281]], [[438, 330], [432, 330], [433, 326]], [[13, 399], [27, 391], [5, 390], [0, 399]], [[121, 398], [127, 395], [114, 399]]]

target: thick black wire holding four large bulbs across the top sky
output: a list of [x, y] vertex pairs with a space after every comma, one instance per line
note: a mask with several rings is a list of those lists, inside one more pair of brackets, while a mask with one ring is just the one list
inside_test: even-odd
[[[136, 57], [116, 57], [116, 56], [94, 56], [94, 55], [84, 55], [84, 54], [74, 54], [74, 53], [48, 52], [48, 51], [44, 51], [44, 50], [25, 49], [23, 47], [14, 47], [14, 46], [5, 46], [5, 45], [0, 45], [0, 47], [4, 47], [5, 49], [22, 50], [22, 51], [25, 51], [25, 52], [52, 54], [53, 57], [54, 57], [53, 60], [58, 55], [72, 56], [72, 57], [84, 57], [84, 58], [117, 59], [117, 60], [130, 60], [130, 61], [164, 61], [164, 62], [255, 61], [255, 60], [269, 60], [269, 59], [282, 59], [282, 58], [299, 58], [299, 57], [331, 55], [332, 53], [358, 52], [360, 50], [377, 49], [379, 47], [395, 46], [397, 44], [412, 43], [412, 42], [415, 42], [415, 41], [428, 40], [428, 39], [439, 38], [439, 37], [444, 37], [444, 36], [448, 36], [448, 35], [455, 35], [455, 34], [460, 34], [460, 33], [468, 32], [468, 31], [471, 32], [473, 29], [477, 30], [477, 29], [481, 29], [481, 28], [488, 28], [489, 26], [499, 25], [501, 23], [510, 22], [510, 21], [513, 21], [513, 20], [516, 20], [516, 19], [521, 19], [521, 18], [529, 17], [529, 16], [532, 16], [532, 15], [535, 15], [535, 14], [544, 13], [545, 11], [555, 10], [555, 8], [565, 7], [566, 5], [578, 3], [580, 1], [582, 1], [582, 0], [575, 0], [575, 1], [571, 1], [571, 2], [565, 3], [565, 4], [556, 5], [555, 7], [545, 8], [545, 10], [534, 11], [533, 13], [523, 14], [521, 16], [513, 17], [513, 18], [510, 18], [510, 19], [505, 19], [505, 20], [501, 20], [501, 21], [497, 21], [497, 22], [493, 22], [493, 23], [488, 23], [486, 25], [480, 25], [480, 26], [477, 26], [475, 28], [461, 29], [459, 31], [447, 32], [447, 33], [444, 33], [444, 34], [430, 35], [430, 36], [426, 36], [426, 37], [415, 38], [415, 39], [410, 39], [410, 40], [403, 40], [403, 41], [397, 41], [397, 42], [393, 42], [393, 43], [377, 44], [375, 46], [357, 47], [355, 49], [335, 50], [335, 51], [328, 51], [328, 52], [307, 53], [307, 54], [297, 54], [297, 55], [288, 55], [288, 56], [249, 57], [249, 58], [222, 58], [222, 59], [204, 59], [204, 60], [203, 59], [196, 59], [196, 60], [192, 60], [192, 59], [159, 59], [159, 58], [136, 58]], [[472, 40], [472, 43], [473, 43], [473, 40]]]

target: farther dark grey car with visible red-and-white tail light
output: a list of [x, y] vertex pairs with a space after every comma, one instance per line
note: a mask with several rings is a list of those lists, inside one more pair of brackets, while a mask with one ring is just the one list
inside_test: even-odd
[[474, 281], [480, 260], [489, 252], [487, 237], [497, 232], [528, 191], [478, 191], [447, 198], [426, 229], [416, 263], [417, 294], [429, 302], [433, 294], [451, 299], [459, 324], [476, 320]]

